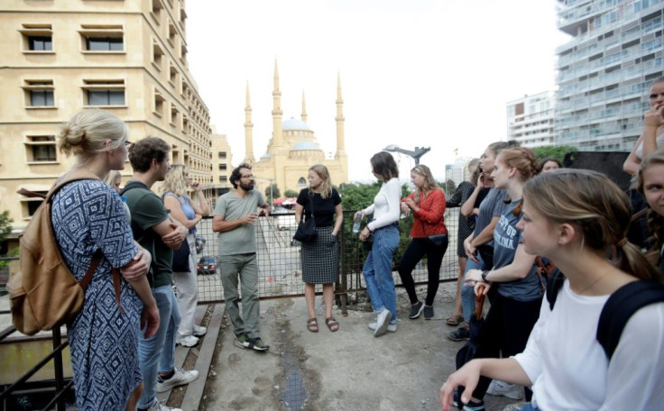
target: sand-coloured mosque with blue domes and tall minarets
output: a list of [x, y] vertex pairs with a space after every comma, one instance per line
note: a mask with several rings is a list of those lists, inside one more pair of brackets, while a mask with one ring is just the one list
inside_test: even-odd
[[344, 101], [341, 98], [341, 78], [337, 77], [337, 152], [334, 158], [325, 158], [313, 130], [307, 125], [307, 106], [302, 94], [300, 119], [282, 120], [279, 70], [274, 63], [274, 90], [272, 91], [272, 139], [259, 160], [254, 159], [252, 107], [249, 86], [246, 89], [244, 107], [244, 162], [252, 164], [252, 173], [257, 176], [256, 187], [264, 193], [264, 187], [273, 182], [281, 195], [286, 190], [300, 191], [307, 187], [309, 168], [323, 164], [330, 173], [332, 184], [348, 183], [348, 157], [344, 143]]

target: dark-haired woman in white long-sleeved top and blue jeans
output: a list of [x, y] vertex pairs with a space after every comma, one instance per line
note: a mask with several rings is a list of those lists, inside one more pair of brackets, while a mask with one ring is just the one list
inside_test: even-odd
[[383, 180], [374, 204], [355, 213], [355, 218], [374, 215], [366, 224], [360, 241], [365, 242], [373, 235], [374, 244], [364, 261], [364, 281], [366, 290], [378, 315], [376, 323], [369, 324], [374, 329], [374, 337], [389, 331], [397, 331], [397, 297], [392, 278], [392, 256], [399, 247], [399, 215], [401, 215], [401, 185], [399, 168], [392, 154], [381, 151], [371, 158], [375, 178]]

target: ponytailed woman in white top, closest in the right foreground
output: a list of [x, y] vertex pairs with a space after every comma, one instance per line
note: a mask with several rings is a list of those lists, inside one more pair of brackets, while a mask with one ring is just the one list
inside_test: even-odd
[[[553, 310], [545, 299], [526, 349], [506, 359], [468, 362], [440, 388], [443, 410], [455, 388], [467, 402], [480, 375], [532, 386], [521, 410], [646, 410], [664, 403], [664, 303], [632, 315], [609, 361], [596, 340], [599, 315], [618, 288], [656, 271], [625, 239], [626, 196], [603, 174], [559, 169], [523, 190], [525, 251], [556, 261], [567, 279]], [[617, 248], [615, 265], [606, 258]]]

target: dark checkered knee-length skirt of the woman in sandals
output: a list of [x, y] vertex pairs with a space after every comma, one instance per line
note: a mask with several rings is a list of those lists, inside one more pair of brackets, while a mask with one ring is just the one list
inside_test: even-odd
[[302, 242], [302, 280], [307, 284], [330, 284], [339, 278], [339, 243], [333, 226], [316, 227], [318, 238]]

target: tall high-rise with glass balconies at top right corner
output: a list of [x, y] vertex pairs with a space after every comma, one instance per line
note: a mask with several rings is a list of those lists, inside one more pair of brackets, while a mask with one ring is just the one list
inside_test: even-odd
[[558, 0], [554, 142], [581, 151], [631, 151], [664, 74], [664, 0]]

